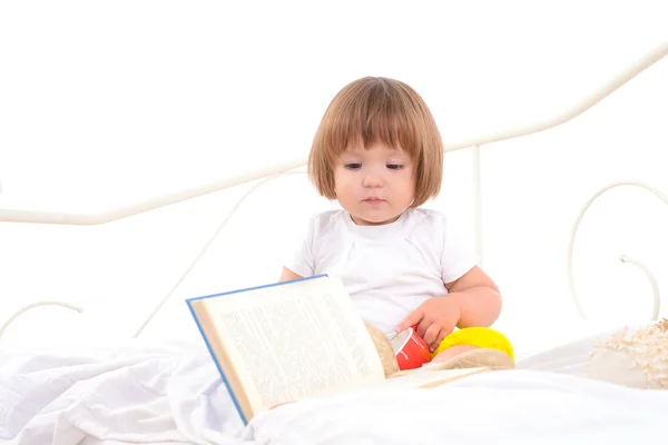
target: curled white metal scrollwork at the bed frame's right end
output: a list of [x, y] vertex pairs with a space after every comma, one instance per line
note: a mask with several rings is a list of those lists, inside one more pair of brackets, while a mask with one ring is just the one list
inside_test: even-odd
[[[573, 249], [574, 249], [574, 244], [576, 244], [576, 236], [578, 235], [578, 229], [580, 228], [580, 222], [582, 221], [582, 218], [584, 217], [584, 214], [587, 212], [589, 207], [606, 191], [611, 190], [616, 187], [622, 187], [622, 186], [635, 186], [635, 187], [644, 188], [644, 189], [652, 192], [657, 198], [662, 200], [664, 204], [668, 206], [668, 197], [664, 192], [661, 192], [661, 190], [659, 190], [658, 188], [652, 187], [648, 184], [644, 184], [644, 182], [639, 182], [639, 181], [612, 182], [612, 184], [603, 187], [596, 194], [593, 194], [593, 196], [591, 198], [589, 198], [587, 204], [584, 206], [582, 206], [582, 208], [580, 209], [580, 214], [578, 215], [578, 218], [576, 219], [576, 221], [573, 222], [573, 226], [571, 228], [571, 236], [570, 236], [569, 244], [568, 244], [567, 275], [568, 275], [568, 284], [570, 287], [571, 297], [576, 305], [576, 309], [578, 310], [578, 313], [580, 314], [580, 316], [583, 319], [588, 319], [588, 317], [587, 317], [587, 314], [584, 314], [584, 309], [582, 309], [582, 305], [580, 304], [580, 299], [578, 297], [578, 290], [576, 288], [576, 280], [573, 278]], [[649, 281], [651, 284], [652, 293], [654, 293], [654, 308], [652, 308], [652, 317], [654, 318], [652, 319], [658, 318], [660, 304], [661, 304], [661, 296], [659, 293], [659, 286], [657, 284], [657, 280], [654, 277], [654, 275], [651, 274], [651, 271], [642, 263], [640, 263], [636, 259], [631, 259], [623, 255], [620, 257], [620, 261], [630, 263], [630, 264], [633, 264], [633, 265], [640, 267], [640, 269], [642, 269], [642, 271], [647, 276], [647, 279], [649, 279]]]

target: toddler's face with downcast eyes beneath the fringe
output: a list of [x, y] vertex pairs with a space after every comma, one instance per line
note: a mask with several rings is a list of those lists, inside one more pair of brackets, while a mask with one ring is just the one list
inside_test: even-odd
[[413, 161], [405, 151], [383, 142], [347, 149], [336, 161], [334, 189], [356, 224], [392, 222], [415, 197]]

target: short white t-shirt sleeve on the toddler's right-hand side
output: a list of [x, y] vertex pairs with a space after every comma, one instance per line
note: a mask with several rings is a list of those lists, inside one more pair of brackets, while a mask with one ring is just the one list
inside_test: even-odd
[[445, 216], [442, 219], [441, 230], [443, 235], [441, 279], [443, 283], [452, 283], [478, 264], [475, 240], [473, 234], [459, 228]]

